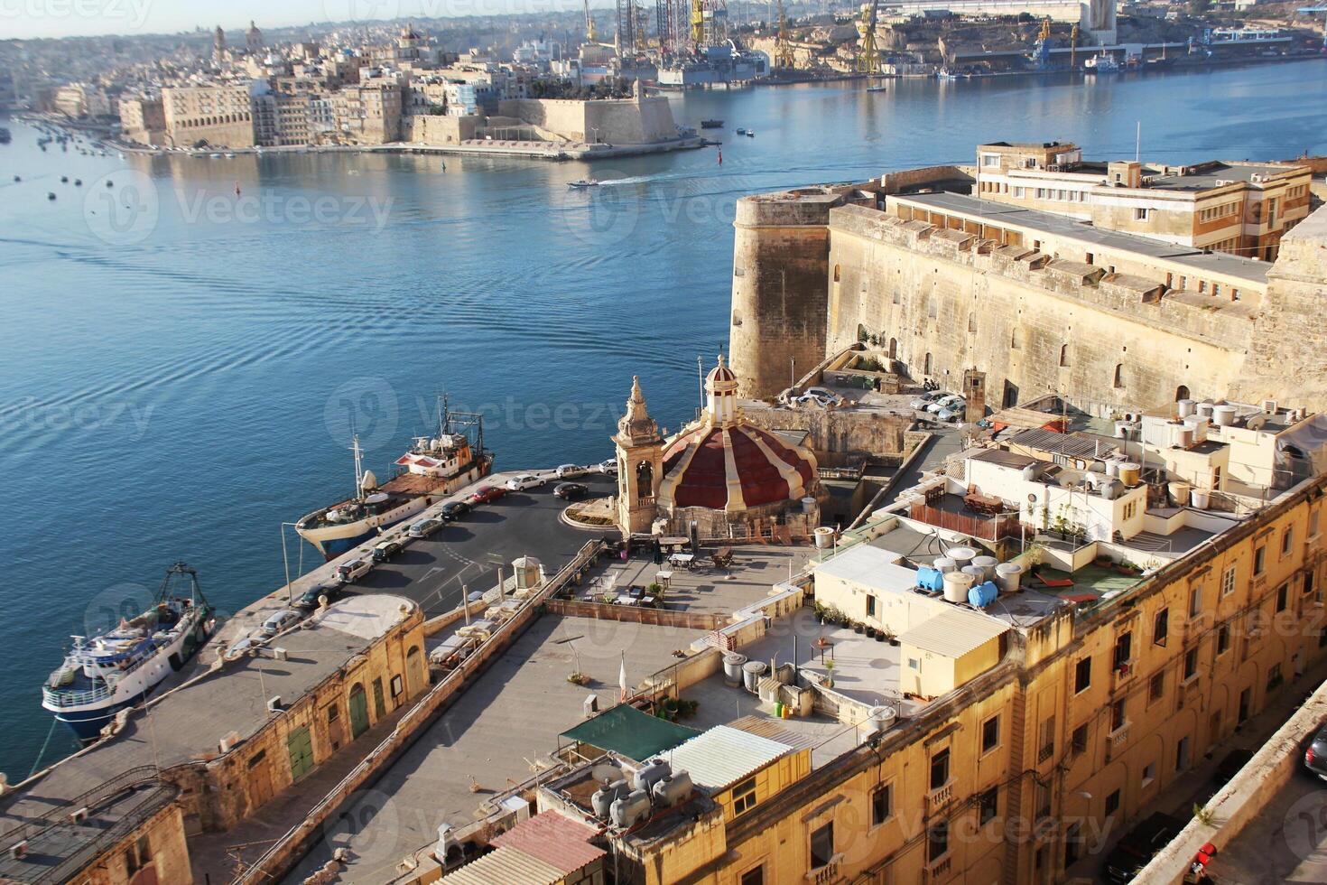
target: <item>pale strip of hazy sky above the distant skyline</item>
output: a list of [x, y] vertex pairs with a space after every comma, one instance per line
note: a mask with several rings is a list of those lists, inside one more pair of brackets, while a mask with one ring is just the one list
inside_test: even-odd
[[[604, 0], [592, 0], [592, 7]], [[259, 28], [311, 21], [441, 19], [468, 15], [553, 12], [581, 0], [0, 0], [0, 38], [106, 33], [175, 33], [222, 25], [239, 42], [249, 20]]]

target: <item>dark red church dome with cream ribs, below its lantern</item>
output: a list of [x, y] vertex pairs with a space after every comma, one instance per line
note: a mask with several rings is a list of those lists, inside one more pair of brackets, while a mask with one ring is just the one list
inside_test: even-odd
[[702, 422], [664, 448], [660, 503], [740, 511], [795, 502], [816, 480], [815, 455], [742, 422]]

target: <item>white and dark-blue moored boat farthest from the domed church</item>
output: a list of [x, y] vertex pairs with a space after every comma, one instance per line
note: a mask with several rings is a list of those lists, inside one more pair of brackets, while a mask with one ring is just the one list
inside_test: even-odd
[[73, 637], [73, 650], [41, 687], [41, 706], [80, 740], [96, 740], [117, 711], [184, 666], [215, 626], [198, 572], [175, 563], [150, 609], [90, 640]]

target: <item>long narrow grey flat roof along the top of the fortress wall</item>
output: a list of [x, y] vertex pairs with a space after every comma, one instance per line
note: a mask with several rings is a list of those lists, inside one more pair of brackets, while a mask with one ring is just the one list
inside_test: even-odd
[[990, 220], [993, 224], [1016, 226], [1055, 234], [1059, 236], [1082, 240], [1093, 245], [1117, 249], [1120, 252], [1136, 252], [1139, 255], [1192, 267], [1197, 271], [1221, 273], [1225, 276], [1249, 280], [1250, 283], [1266, 283], [1267, 271], [1271, 264], [1257, 261], [1229, 252], [1204, 252], [1189, 245], [1151, 240], [1133, 234], [1120, 234], [1093, 227], [1087, 222], [1080, 222], [1066, 215], [1054, 212], [1039, 212], [1036, 210], [1013, 206], [1010, 203], [997, 203], [983, 200], [965, 194], [908, 194], [894, 195], [890, 199], [908, 200], [920, 206], [926, 206], [942, 212], [959, 212]]

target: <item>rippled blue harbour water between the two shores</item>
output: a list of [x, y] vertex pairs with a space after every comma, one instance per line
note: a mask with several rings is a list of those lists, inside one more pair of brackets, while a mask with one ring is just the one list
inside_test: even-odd
[[[713, 149], [593, 169], [119, 161], [41, 153], [33, 130], [11, 122], [13, 143], [0, 146], [0, 645], [11, 649], [0, 770], [28, 774], [49, 726], [37, 689], [98, 592], [155, 586], [176, 559], [199, 568], [222, 609], [280, 584], [279, 524], [350, 490], [345, 417], [336, 402], [328, 411], [348, 382], [394, 398], [361, 403], [372, 406], [361, 421], [385, 422], [368, 456], [380, 474], [429, 430], [443, 390], [486, 409], [500, 467], [600, 460], [632, 374], [662, 425], [694, 413], [697, 354], [709, 364], [727, 338], [738, 196], [971, 163], [979, 141], [1059, 138], [1093, 158], [1132, 157], [1140, 119], [1144, 155], [1168, 162], [1327, 153], [1324, 73], [1300, 62], [674, 98], [678, 122], [726, 119], [707, 133], [727, 142], [722, 166]], [[85, 223], [84, 196], [126, 167], [154, 178], [161, 219], [143, 241], [110, 247]], [[588, 174], [598, 192], [567, 188]], [[236, 184], [283, 206], [334, 195], [340, 214], [190, 220], [199, 198], [234, 206]], [[372, 214], [352, 218], [357, 200], [387, 207], [381, 230]], [[48, 756], [68, 748], [56, 732]]]

